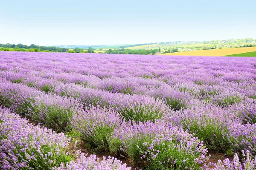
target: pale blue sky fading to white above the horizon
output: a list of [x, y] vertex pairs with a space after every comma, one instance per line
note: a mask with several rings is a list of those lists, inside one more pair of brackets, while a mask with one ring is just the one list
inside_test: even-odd
[[256, 39], [255, 0], [0, 0], [0, 43]]

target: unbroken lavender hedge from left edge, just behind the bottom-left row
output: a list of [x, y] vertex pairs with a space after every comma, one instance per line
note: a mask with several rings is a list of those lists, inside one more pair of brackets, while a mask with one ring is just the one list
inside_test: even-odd
[[77, 99], [46, 94], [26, 85], [3, 82], [0, 92], [1, 105], [56, 131], [68, 130], [69, 119], [82, 110]]

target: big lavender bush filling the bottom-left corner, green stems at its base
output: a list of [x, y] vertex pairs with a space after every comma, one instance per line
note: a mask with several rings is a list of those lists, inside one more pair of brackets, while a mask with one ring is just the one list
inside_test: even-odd
[[64, 133], [28, 124], [0, 108], [0, 168], [48, 170], [73, 159], [67, 152], [70, 139]]

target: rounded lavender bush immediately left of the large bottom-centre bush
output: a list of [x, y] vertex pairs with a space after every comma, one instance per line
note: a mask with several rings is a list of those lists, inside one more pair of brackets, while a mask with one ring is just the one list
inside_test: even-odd
[[111, 133], [120, 128], [122, 117], [113, 109], [90, 105], [85, 111], [73, 115], [72, 127], [81, 133], [81, 138], [97, 147], [98, 150], [108, 151]]

